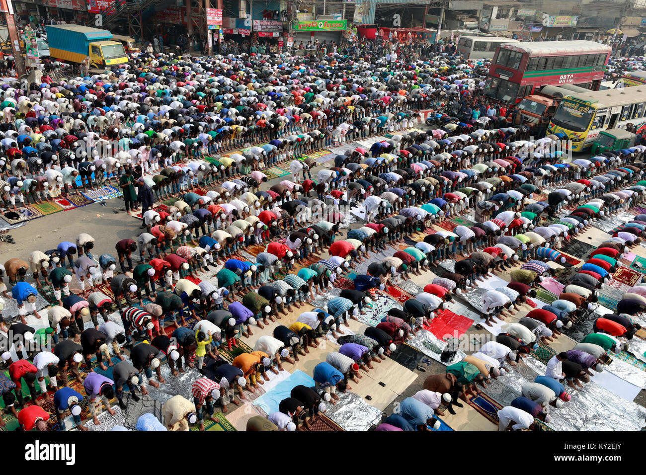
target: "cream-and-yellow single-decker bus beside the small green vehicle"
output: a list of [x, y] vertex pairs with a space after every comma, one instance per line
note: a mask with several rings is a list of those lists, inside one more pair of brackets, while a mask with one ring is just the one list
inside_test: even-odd
[[628, 123], [638, 131], [646, 129], [646, 87], [565, 96], [550, 121], [548, 133], [567, 136], [570, 149], [580, 152], [592, 145], [600, 131], [625, 129]]

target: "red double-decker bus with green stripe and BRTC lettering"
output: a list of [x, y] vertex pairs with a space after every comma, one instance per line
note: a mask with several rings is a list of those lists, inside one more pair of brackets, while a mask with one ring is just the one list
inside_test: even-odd
[[582, 40], [500, 45], [489, 68], [485, 94], [517, 103], [548, 84], [598, 90], [611, 51], [607, 45]]

